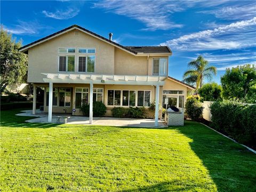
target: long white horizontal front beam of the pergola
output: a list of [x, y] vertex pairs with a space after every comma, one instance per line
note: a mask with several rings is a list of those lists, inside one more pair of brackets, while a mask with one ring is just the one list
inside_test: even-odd
[[108, 85], [159, 85], [163, 86], [164, 81], [105, 81], [101, 82], [101, 80], [83, 80], [83, 79], [49, 79], [43, 78], [45, 83], [79, 83], [79, 84], [108, 84]]

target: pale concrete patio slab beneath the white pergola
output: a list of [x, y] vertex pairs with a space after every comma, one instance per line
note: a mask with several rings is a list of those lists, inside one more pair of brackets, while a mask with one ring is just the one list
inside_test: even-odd
[[[37, 117], [29, 119], [26, 122], [29, 123], [48, 123], [48, 114], [36, 110], [36, 114], [32, 114], [32, 110], [23, 110], [23, 113], [17, 114], [18, 116], [31, 116]], [[52, 123], [57, 123], [57, 116], [65, 117], [68, 116], [67, 124], [82, 124], [91, 125], [89, 117], [84, 116], [72, 116], [71, 114], [53, 114]], [[61, 122], [64, 123], [64, 119], [60, 118]], [[93, 125], [105, 125], [105, 126], [130, 126], [130, 127], [155, 127], [155, 119], [138, 119], [138, 118], [115, 118], [115, 117], [93, 117]], [[164, 120], [158, 120], [158, 127], [167, 127]]]

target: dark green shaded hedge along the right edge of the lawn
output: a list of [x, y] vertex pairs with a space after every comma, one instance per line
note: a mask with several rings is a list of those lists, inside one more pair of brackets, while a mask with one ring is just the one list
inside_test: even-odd
[[210, 110], [213, 129], [256, 148], [256, 105], [220, 101], [213, 102]]

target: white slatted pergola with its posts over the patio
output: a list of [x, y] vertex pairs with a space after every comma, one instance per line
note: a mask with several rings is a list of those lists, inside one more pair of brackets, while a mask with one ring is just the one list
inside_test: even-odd
[[[159, 103], [159, 86], [164, 85], [165, 76], [131, 76], [131, 75], [89, 75], [89, 74], [43, 74], [46, 76], [44, 78], [44, 82], [49, 85], [49, 99], [47, 101], [47, 112], [48, 112], [48, 122], [52, 122], [52, 109], [53, 109], [53, 85], [57, 84], [63, 84], [63, 85], [71, 85], [71, 84], [77, 84], [77, 86], [82, 84], [87, 84], [89, 87], [89, 105], [90, 105], [90, 117], [89, 117], [89, 123], [93, 124], [93, 109], [92, 109], [92, 103], [93, 103], [93, 89], [94, 85], [102, 85], [102, 86], [123, 86], [123, 87], [131, 87], [133, 85], [135, 86], [154, 86], [154, 98], [155, 102]], [[134, 86], [134, 87], [135, 87]], [[34, 85], [34, 91], [36, 90], [36, 84]], [[154, 102], [151, 100], [151, 102]], [[34, 97], [33, 102], [35, 104], [36, 97]], [[160, 100], [161, 102], [161, 100]], [[75, 109], [75, 106], [70, 106]], [[71, 109], [70, 109], [71, 110]], [[46, 111], [45, 111], [46, 112]], [[33, 106], [33, 114], [35, 114], [35, 105]], [[158, 105], [156, 105], [155, 110], [155, 126], [158, 126], [158, 113], [159, 108]], [[74, 115], [74, 114], [73, 114]]]

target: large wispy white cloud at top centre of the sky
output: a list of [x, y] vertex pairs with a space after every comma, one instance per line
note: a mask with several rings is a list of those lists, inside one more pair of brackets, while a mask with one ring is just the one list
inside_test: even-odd
[[182, 25], [170, 21], [173, 12], [182, 11], [181, 6], [166, 1], [103, 1], [94, 3], [94, 8], [105, 9], [107, 12], [124, 15], [145, 23], [143, 30], [167, 30], [181, 28]]

